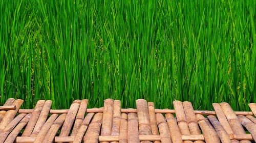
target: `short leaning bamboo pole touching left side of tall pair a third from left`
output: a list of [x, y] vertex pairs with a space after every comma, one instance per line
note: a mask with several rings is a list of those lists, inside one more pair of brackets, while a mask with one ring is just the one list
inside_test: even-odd
[[53, 122], [44, 140], [42, 140], [42, 143], [53, 142], [53, 139], [55, 138], [56, 133], [58, 132], [59, 128], [62, 126], [66, 117], [67, 117], [67, 114], [63, 113]]

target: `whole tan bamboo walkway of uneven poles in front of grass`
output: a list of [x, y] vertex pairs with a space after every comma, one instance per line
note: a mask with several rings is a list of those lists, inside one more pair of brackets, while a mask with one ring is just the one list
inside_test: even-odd
[[174, 109], [155, 109], [136, 100], [137, 109], [121, 109], [119, 100], [88, 109], [88, 100], [75, 100], [70, 109], [53, 110], [39, 100], [34, 109], [19, 109], [23, 100], [10, 98], [0, 106], [1, 142], [254, 142], [256, 103], [251, 111], [233, 111], [214, 103], [215, 111], [194, 110], [190, 102], [174, 101]]

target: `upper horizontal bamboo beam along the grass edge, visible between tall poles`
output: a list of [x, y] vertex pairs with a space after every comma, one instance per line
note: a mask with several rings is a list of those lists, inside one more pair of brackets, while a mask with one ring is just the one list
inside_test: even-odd
[[[32, 113], [34, 109], [19, 109], [18, 113]], [[103, 112], [103, 108], [91, 108], [87, 109], [87, 112]], [[68, 113], [69, 109], [51, 109], [50, 113]], [[137, 109], [121, 109], [122, 113], [130, 113], [130, 112], [137, 112]], [[155, 113], [175, 113], [174, 109], [155, 109]], [[195, 114], [202, 114], [202, 115], [216, 115], [215, 111], [207, 111], [207, 110], [194, 110]], [[234, 111], [236, 115], [243, 115], [243, 116], [248, 116], [251, 115], [253, 116], [252, 111]]]

